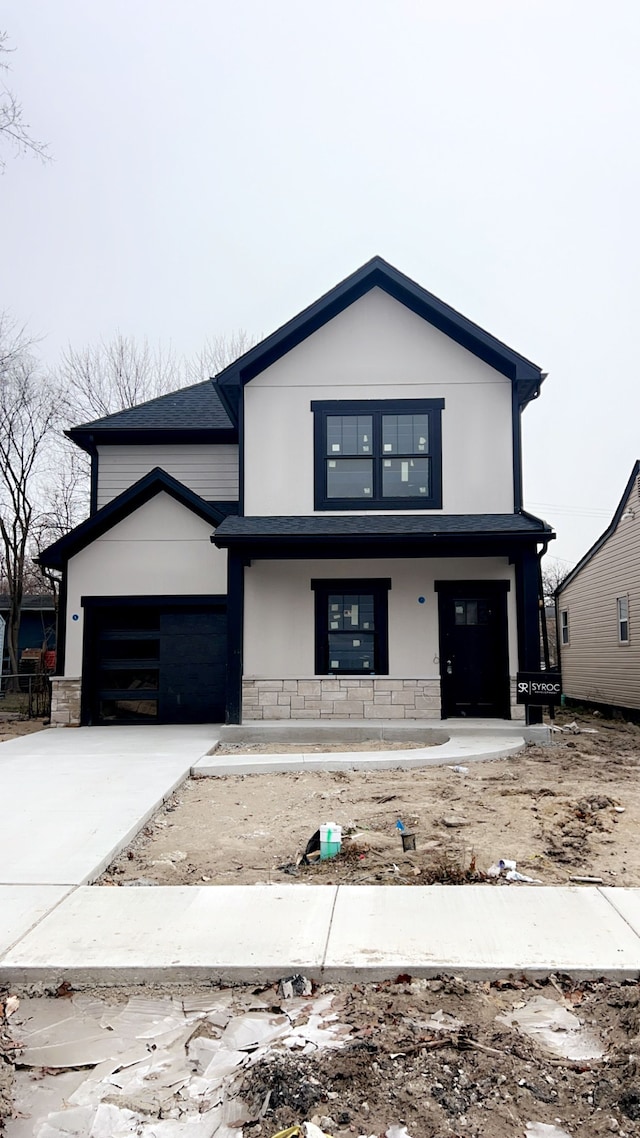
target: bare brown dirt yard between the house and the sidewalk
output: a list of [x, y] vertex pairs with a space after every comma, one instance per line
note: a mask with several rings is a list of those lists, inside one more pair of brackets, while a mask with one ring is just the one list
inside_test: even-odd
[[[640, 885], [640, 727], [582, 716], [580, 733], [571, 733], [569, 718], [558, 720], [565, 731], [553, 745], [469, 762], [465, 774], [430, 767], [190, 780], [101, 883], [463, 884], [508, 859], [547, 885], [575, 876]], [[416, 834], [412, 852], [403, 852], [399, 818]], [[323, 822], [342, 825], [342, 853], [297, 864]]]

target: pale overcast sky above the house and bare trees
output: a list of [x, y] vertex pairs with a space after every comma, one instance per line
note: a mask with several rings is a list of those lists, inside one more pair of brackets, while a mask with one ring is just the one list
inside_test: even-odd
[[640, 457], [638, 0], [5, 0], [54, 162], [0, 308], [55, 363], [266, 335], [380, 254], [549, 373], [525, 504], [574, 563]]

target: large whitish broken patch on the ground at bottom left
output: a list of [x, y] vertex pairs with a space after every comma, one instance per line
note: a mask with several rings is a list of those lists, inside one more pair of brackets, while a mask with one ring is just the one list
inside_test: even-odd
[[7, 1138], [238, 1138], [249, 1120], [233, 1086], [247, 1067], [273, 1049], [304, 1055], [352, 1038], [333, 998], [293, 997], [281, 1012], [232, 989], [125, 1004], [23, 998]]

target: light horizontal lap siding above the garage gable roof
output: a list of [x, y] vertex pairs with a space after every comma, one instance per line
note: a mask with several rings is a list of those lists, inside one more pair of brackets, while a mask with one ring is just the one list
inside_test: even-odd
[[99, 446], [98, 509], [161, 467], [207, 502], [238, 500], [238, 446]]

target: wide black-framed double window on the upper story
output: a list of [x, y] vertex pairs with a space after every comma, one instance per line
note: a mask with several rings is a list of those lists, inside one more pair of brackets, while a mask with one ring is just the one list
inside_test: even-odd
[[317, 510], [442, 509], [444, 399], [313, 402]]

